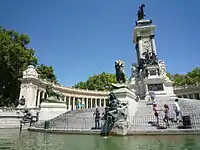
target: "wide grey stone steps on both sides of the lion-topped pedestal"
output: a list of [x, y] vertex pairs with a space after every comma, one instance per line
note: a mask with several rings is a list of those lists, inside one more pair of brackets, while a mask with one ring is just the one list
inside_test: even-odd
[[[159, 109], [163, 109], [163, 105], [167, 104], [170, 108], [170, 118], [175, 117], [173, 110], [173, 103], [175, 98], [168, 96], [157, 96], [155, 99]], [[134, 122], [130, 130], [158, 130], [155, 126], [152, 126], [149, 122], [156, 122], [152, 105], [146, 105], [149, 103], [146, 100], [138, 102], [138, 109], [134, 116]], [[179, 104], [183, 110], [184, 115], [189, 115], [193, 128], [200, 129], [200, 101], [194, 99], [179, 98]], [[102, 114], [104, 108], [99, 108]], [[49, 120], [49, 128], [51, 129], [91, 129], [94, 127], [93, 113], [95, 109], [83, 109], [72, 110], [66, 112], [54, 119]], [[165, 126], [163, 122], [164, 113], [159, 112], [159, 124]], [[177, 123], [170, 122], [170, 129], [177, 129]], [[35, 124], [35, 127], [44, 128], [44, 121]]]

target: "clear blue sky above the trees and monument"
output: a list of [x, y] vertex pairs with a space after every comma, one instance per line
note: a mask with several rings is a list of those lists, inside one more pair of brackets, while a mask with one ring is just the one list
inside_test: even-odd
[[103, 71], [136, 62], [133, 39], [138, 6], [153, 19], [159, 59], [167, 71], [200, 66], [200, 1], [182, 0], [1, 0], [0, 26], [26, 33], [40, 64], [52, 65], [61, 84], [72, 86]]

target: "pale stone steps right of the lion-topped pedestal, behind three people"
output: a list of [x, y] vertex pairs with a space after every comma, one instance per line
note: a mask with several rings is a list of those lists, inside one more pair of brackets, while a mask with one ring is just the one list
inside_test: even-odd
[[[158, 109], [163, 109], [163, 105], [167, 104], [170, 108], [170, 118], [175, 118], [175, 112], [173, 109], [173, 103], [175, 98], [170, 98], [167, 96], [158, 96], [155, 99], [155, 103], [158, 105]], [[134, 123], [131, 130], [157, 130], [155, 126], [149, 124], [149, 122], [156, 122], [154, 117], [152, 105], [146, 105], [149, 103], [146, 100], [141, 100], [138, 102], [138, 110], [134, 116]], [[183, 99], [179, 98], [179, 104], [183, 111], [183, 115], [190, 116], [193, 128], [200, 129], [200, 101], [194, 99]], [[163, 122], [164, 113], [159, 112], [159, 124], [165, 126]], [[170, 128], [176, 129], [177, 123], [170, 122]]]

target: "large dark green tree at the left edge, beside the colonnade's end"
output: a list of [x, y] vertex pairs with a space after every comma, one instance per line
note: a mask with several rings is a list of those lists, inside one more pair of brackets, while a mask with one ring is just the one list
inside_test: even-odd
[[37, 65], [34, 50], [28, 48], [30, 39], [25, 34], [0, 27], [0, 105], [10, 105], [19, 96], [23, 70]]

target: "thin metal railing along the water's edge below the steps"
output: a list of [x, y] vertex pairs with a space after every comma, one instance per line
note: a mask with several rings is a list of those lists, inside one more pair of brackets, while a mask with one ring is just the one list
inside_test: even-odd
[[[191, 128], [200, 129], [200, 115], [197, 114], [187, 114], [190, 116]], [[159, 115], [159, 126], [166, 127], [166, 123], [163, 121], [164, 116]], [[178, 126], [183, 126], [183, 121], [177, 123], [174, 116], [169, 117], [169, 129], [177, 129]], [[131, 117], [130, 120], [130, 130], [156, 130], [156, 117], [153, 115], [146, 115], [141, 117]], [[69, 118], [59, 118], [58, 120], [48, 121], [48, 129], [70, 129], [70, 130], [90, 130], [95, 127], [95, 119], [93, 117], [69, 117]], [[45, 122], [37, 123], [34, 125], [36, 128], [44, 128]], [[100, 120], [100, 127], [104, 124], [104, 120]]]

